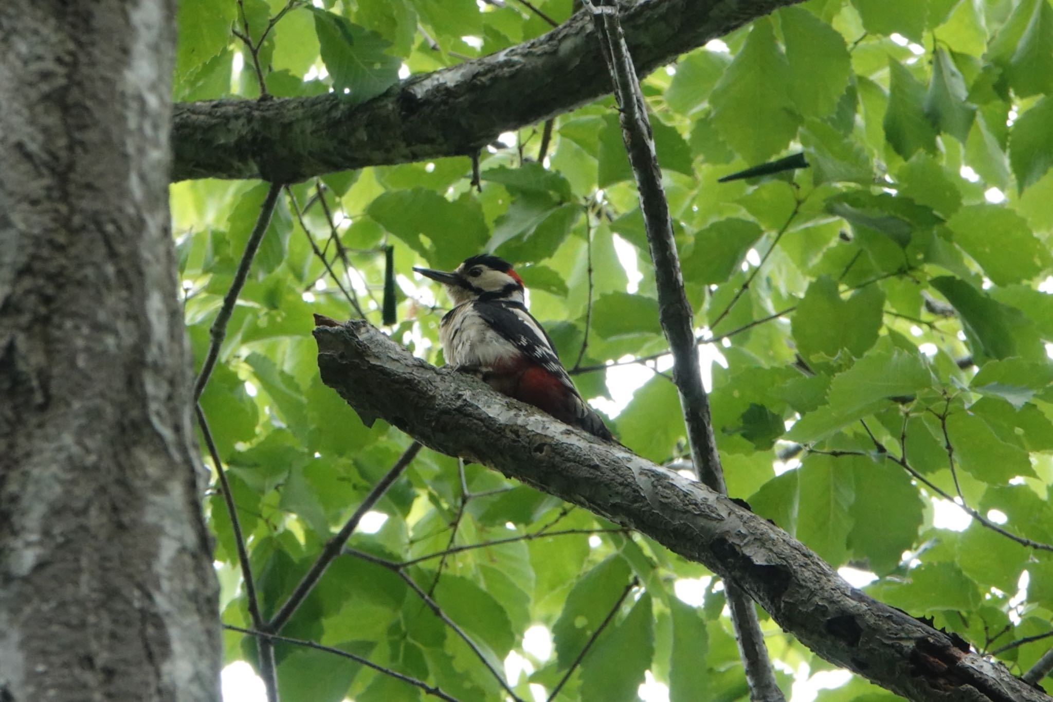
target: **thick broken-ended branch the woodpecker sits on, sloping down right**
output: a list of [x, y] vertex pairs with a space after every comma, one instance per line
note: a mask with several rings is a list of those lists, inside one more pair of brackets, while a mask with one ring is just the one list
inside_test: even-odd
[[1050, 702], [1000, 663], [846, 583], [766, 519], [481, 381], [414, 358], [363, 322], [318, 327], [322, 380], [423, 444], [635, 528], [734, 580], [822, 658], [912, 700]]

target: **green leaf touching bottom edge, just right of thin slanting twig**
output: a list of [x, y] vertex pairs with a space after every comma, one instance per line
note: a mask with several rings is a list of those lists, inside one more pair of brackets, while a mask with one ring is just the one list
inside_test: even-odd
[[582, 702], [636, 702], [654, 645], [651, 596], [644, 594], [624, 620], [600, 634], [581, 661]]

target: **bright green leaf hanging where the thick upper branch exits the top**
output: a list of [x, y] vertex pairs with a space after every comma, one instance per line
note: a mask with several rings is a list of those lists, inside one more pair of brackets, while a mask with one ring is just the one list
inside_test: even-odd
[[852, 73], [845, 39], [807, 9], [784, 7], [779, 20], [790, 66], [790, 97], [801, 115], [827, 117]]

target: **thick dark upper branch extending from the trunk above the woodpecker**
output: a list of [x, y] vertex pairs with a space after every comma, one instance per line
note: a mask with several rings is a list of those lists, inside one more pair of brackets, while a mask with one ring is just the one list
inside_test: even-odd
[[[637, 72], [802, 0], [641, 0], [621, 22]], [[335, 95], [176, 105], [173, 180], [296, 182], [333, 171], [473, 154], [502, 132], [611, 92], [595, 29], [578, 13], [497, 54], [393, 86], [360, 105]]]

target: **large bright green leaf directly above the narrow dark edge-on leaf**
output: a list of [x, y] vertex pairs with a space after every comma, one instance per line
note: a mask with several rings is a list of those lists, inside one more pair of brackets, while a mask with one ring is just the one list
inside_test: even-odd
[[717, 132], [747, 162], [767, 161], [797, 134], [789, 83], [771, 21], [758, 19], [710, 96]]

